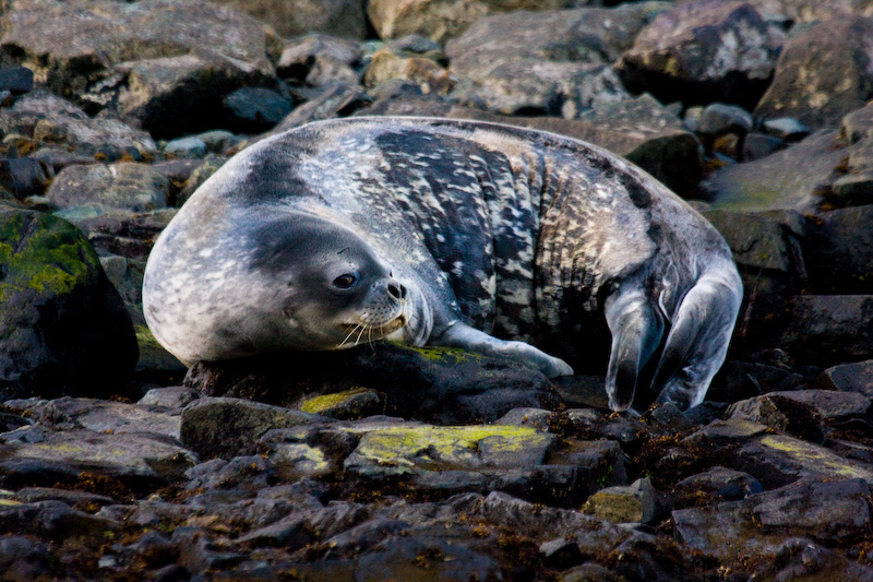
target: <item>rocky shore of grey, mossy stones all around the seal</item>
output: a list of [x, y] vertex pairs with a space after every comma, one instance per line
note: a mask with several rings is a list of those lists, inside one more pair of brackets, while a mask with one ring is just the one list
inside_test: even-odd
[[[873, 580], [873, 1], [589, 3], [0, 0], [0, 578]], [[394, 345], [187, 371], [155, 237], [352, 115], [565, 133], [692, 201], [746, 288], [707, 402]]]

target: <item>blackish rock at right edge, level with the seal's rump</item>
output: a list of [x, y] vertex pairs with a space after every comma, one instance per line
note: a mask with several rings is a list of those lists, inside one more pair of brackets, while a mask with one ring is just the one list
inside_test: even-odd
[[873, 206], [823, 213], [804, 244], [815, 293], [873, 293]]

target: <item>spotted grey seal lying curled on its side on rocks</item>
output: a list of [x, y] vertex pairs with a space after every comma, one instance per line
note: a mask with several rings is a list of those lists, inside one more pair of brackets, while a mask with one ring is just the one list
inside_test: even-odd
[[237, 154], [162, 233], [143, 284], [152, 332], [188, 364], [388, 338], [599, 369], [617, 411], [641, 383], [702, 402], [741, 299], [715, 228], [618, 156], [400, 117]]

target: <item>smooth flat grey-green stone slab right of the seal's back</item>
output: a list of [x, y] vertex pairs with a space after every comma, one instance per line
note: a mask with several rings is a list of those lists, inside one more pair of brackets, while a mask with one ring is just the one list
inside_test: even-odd
[[718, 169], [701, 188], [716, 209], [815, 213], [848, 153], [836, 131], [823, 130], [763, 159]]

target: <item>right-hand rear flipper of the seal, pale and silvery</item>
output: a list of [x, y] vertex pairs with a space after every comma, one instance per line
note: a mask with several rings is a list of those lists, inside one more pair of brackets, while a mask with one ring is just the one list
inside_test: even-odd
[[685, 295], [651, 382], [659, 403], [686, 409], [703, 402], [727, 356], [742, 294], [730, 264], [702, 276]]

